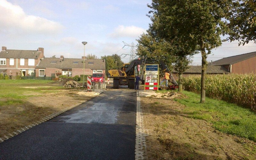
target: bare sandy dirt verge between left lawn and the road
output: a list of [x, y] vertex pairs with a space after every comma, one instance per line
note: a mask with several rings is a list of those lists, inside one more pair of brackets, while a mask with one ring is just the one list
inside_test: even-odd
[[99, 94], [80, 89], [58, 91], [29, 97], [21, 105], [0, 106], [0, 137]]

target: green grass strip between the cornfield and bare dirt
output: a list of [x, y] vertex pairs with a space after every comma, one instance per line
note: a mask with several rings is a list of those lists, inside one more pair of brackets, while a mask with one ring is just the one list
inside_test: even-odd
[[186, 114], [195, 119], [212, 123], [221, 132], [248, 138], [256, 142], [256, 114], [250, 109], [239, 107], [222, 100], [207, 98], [200, 103], [200, 95], [183, 91], [187, 98], [175, 99], [186, 106]]

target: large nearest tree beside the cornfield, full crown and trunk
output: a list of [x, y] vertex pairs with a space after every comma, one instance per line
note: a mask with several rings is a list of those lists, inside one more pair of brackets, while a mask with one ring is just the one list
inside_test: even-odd
[[152, 0], [148, 5], [153, 13], [151, 28], [159, 37], [201, 52], [201, 103], [205, 102], [206, 58], [221, 45], [220, 35], [228, 31], [227, 22], [222, 20], [230, 13], [232, 4], [232, 0]]

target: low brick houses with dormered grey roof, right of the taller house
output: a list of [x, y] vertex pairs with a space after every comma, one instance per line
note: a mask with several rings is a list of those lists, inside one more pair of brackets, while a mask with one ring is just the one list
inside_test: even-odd
[[84, 61], [84, 57], [74, 59], [60, 56], [60, 58], [43, 58], [36, 66], [38, 76], [52, 76], [52, 74], [56, 76], [57, 72], [71, 77], [83, 74], [92, 75], [92, 73], [105, 74], [106, 62], [101, 59], [85, 59]]

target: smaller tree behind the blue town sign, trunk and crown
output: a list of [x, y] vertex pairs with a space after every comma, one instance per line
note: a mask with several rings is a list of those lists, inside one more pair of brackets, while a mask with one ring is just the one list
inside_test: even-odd
[[148, 34], [142, 34], [138, 39], [138, 54], [140, 56], [147, 56], [150, 59], [163, 60], [171, 70], [174, 68], [179, 73], [179, 92], [182, 92], [182, 74], [188, 68], [191, 62], [190, 56], [196, 52], [192, 50], [185, 50], [179, 43], [166, 42], [164, 39], [157, 37], [152, 33], [153, 30], [149, 29]]

